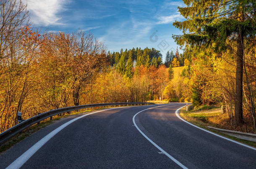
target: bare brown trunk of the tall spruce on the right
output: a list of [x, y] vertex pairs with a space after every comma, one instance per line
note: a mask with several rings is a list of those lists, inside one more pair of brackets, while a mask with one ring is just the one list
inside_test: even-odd
[[243, 33], [238, 33], [235, 76], [235, 125], [240, 125], [243, 123]]

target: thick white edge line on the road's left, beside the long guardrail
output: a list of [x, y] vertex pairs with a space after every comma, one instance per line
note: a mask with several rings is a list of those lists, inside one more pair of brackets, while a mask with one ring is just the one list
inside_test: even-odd
[[[154, 105], [148, 105], [148, 106], [154, 106]], [[131, 107], [131, 106], [125, 106], [125, 107]], [[116, 107], [116, 108], [125, 108], [125, 107]], [[107, 110], [112, 110], [112, 109], [115, 109], [115, 108], [108, 108], [108, 109], [101, 110], [101, 111], [107, 111]], [[26, 161], [28, 161], [28, 159], [31, 156], [33, 156], [37, 152], [37, 150], [39, 150], [47, 141], [49, 141], [53, 136], [55, 136], [59, 131], [64, 129], [66, 126], [68, 126], [69, 124], [73, 123], [74, 121], [76, 121], [78, 119], [81, 119], [85, 116], [88, 116], [88, 115], [94, 114], [94, 113], [98, 113], [101, 111], [96, 111], [96, 112], [92, 112], [89, 114], [79, 116], [79, 117], [59, 126], [57, 129], [53, 130], [52, 132], [50, 132], [49, 134], [44, 136], [44, 138], [39, 140], [36, 144], [34, 144], [34, 146], [31, 146], [26, 152], [24, 152], [21, 156], [19, 156], [18, 159], [13, 161], [6, 169], [19, 169], [23, 164], [25, 164]]]

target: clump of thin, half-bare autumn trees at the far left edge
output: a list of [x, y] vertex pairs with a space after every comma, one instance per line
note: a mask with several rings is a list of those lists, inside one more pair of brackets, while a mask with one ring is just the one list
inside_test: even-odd
[[34, 47], [25, 47], [25, 43], [33, 41], [28, 32], [24, 32], [29, 22], [26, 4], [21, 0], [0, 0], [0, 4], [1, 132], [16, 124], [16, 112], [21, 110], [26, 97], [27, 75], [31, 68], [31, 60], [34, 58], [25, 53], [30, 53]]

